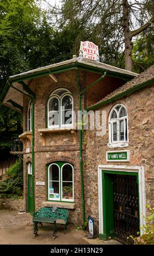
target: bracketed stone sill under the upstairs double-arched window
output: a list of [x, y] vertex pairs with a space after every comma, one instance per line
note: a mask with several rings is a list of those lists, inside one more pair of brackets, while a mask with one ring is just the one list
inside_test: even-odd
[[45, 129], [38, 129], [40, 132], [40, 136], [42, 137], [43, 146], [46, 145], [46, 133], [55, 133], [55, 132], [70, 132], [73, 135], [73, 144], [76, 144], [76, 131], [73, 129], [73, 127], [60, 127], [60, 128], [45, 128]]

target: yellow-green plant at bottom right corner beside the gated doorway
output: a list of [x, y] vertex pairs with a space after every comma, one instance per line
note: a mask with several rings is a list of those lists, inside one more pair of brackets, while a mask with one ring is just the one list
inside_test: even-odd
[[134, 238], [135, 244], [154, 245], [154, 208], [150, 205], [146, 205], [149, 210], [149, 215], [146, 217], [146, 225], [143, 227], [145, 234]]

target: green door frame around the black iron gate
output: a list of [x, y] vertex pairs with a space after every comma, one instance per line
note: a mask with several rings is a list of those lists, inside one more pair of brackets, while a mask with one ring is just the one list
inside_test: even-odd
[[99, 234], [99, 238], [102, 240], [107, 240], [109, 237], [113, 237], [113, 174], [136, 176], [139, 198], [138, 173], [121, 172], [118, 170], [102, 170], [102, 214], [104, 234]]

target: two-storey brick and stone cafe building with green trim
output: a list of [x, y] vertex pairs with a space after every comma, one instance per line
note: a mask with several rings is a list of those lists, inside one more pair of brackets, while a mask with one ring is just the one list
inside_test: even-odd
[[[153, 198], [153, 81], [153, 66], [138, 75], [84, 58], [9, 77], [1, 102], [23, 113], [25, 210], [91, 216], [101, 239], [139, 230]], [[84, 109], [105, 111], [103, 136], [76, 127]]]

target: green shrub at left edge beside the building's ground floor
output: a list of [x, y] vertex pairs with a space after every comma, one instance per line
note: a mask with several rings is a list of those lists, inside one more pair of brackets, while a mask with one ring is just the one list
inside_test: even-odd
[[8, 172], [7, 179], [0, 182], [0, 197], [21, 197], [23, 192], [23, 161], [18, 159]]

